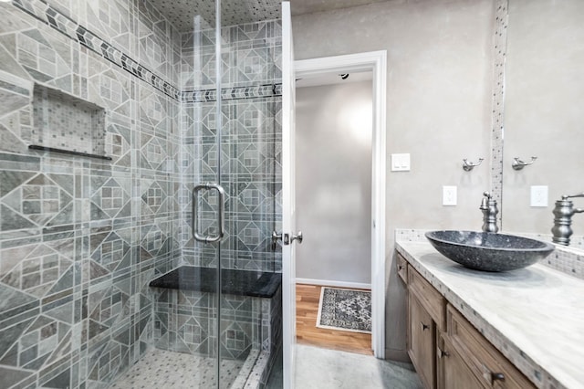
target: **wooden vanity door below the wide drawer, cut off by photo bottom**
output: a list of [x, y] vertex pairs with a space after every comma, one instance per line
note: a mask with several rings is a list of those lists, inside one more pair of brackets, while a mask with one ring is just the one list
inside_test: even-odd
[[439, 366], [442, 370], [441, 389], [479, 389], [484, 386], [474, 376], [473, 371], [464, 363], [463, 357], [456, 352], [447, 336], [443, 336], [443, 352], [439, 352]]

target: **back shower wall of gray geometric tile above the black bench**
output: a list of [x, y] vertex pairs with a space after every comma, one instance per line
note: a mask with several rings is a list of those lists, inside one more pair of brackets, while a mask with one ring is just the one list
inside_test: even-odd
[[[224, 27], [222, 39], [221, 184], [227, 194], [222, 266], [279, 271], [281, 251], [272, 250], [270, 236], [281, 229], [281, 23]], [[200, 183], [217, 181], [214, 78], [214, 31], [183, 34], [181, 122], [184, 148], [193, 155], [183, 166]], [[191, 198], [183, 199], [184, 259], [215, 266], [214, 251], [191, 239], [186, 223], [191, 220]], [[203, 196], [205, 234], [216, 233], [215, 202], [213, 195]]]

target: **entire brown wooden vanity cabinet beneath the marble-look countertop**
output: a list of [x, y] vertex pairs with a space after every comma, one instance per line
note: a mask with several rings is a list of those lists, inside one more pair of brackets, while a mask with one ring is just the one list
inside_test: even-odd
[[415, 268], [406, 268], [408, 354], [424, 388], [536, 387]]

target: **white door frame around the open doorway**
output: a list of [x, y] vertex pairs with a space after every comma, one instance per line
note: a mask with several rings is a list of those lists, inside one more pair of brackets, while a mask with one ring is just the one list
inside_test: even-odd
[[[385, 358], [385, 110], [387, 52], [294, 61], [296, 78], [338, 72], [373, 73], [373, 142], [371, 158], [371, 348]], [[295, 275], [296, 276], [296, 275]], [[294, 325], [294, 323], [292, 323]]]

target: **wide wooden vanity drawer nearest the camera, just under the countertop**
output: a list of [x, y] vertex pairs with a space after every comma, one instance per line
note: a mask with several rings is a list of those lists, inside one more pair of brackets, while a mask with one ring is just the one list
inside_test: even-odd
[[482, 384], [497, 388], [536, 387], [450, 304], [446, 317], [448, 338]]

